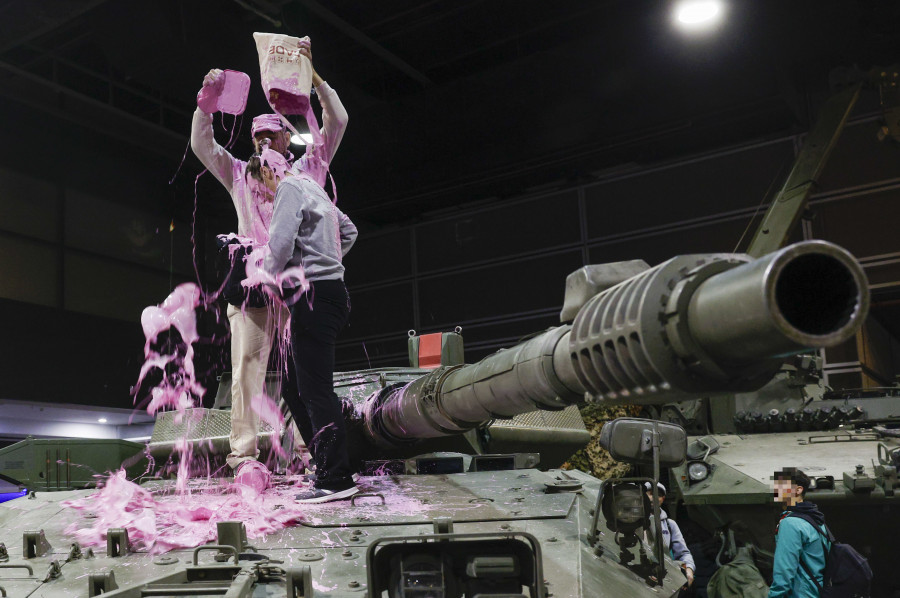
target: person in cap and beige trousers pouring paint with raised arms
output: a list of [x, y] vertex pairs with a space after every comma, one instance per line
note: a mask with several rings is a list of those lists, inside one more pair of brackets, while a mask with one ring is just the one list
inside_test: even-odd
[[[301, 53], [310, 61], [312, 54], [307, 46]], [[216, 96], [225, 88], [220, 69], [212, 69], [203, 79], [198, 94], [198, 108], [191, 126], [191, 148], [203, 165], [213, 173], [231, 195], [238, 219], [237, 234], [244, 242], [254, 246], [265, 245], [269, 240], [269, 224], [272, 219], [273, 199], [264, 185], [247, 176], [247, 162], [239, 160], [215, 140], [213, 115], [204, 111], [216, 106], [210, 96]], [[348, 116], [337, 93], [313, 70], [313, 85], [322, 107], [324, 143], [320, 149], [323, 159], [330, 162], [343, 137]], [[212, 91], [207, 88], [212, 88]], [[202, 107], [201, 107], [202, 106]], [[260, 143], [281, 154], [287, 163], [293, 162], [289, 151], [290, 133], [277, 114], [262, 114], [253, 119], [251, 126], [254, 147], [260, 151]], [[308, 148], [307, 154], [313, 148]], [[231, 452], [228, 465], [235, 470], [235, 481], [262, 489], [268, 485], [270, 473], [258, 461], [258, 415], [252, 409], [252, 401], [265, 389], [265, 375], [271, 348], [278, 332], [287, 322], [287, 309], [266, 304], [229, 304], [228, 322], [231, 329], [232, 410]], [[294, 385], [285, 385], [290, 391]], [[290, 404], [290, 401], [289, 401]], [[292, 410], [293, 411], [293, 410]], [[294, 414], [295, 421], [305, 440], [311, 437], [308, 417]]]

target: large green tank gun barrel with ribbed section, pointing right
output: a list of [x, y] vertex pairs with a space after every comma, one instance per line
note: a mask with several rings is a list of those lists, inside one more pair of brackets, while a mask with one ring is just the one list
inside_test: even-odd
[[655, 404], [749, 392], [785, 356], [853, 336], [868, 312], [859, 263], [825, 241], [756, 260], [679, 256], [642, 270], [588, 293], [571, 324], [384, 389], [367, 403], [368, 434], [402, 443], [585, 400]]

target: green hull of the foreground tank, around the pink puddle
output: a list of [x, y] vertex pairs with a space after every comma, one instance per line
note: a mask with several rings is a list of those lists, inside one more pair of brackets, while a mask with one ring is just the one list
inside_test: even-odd
[[[452, 534], [496, 534], [499, 538], [530, 535], [540, 548], [541, 595], [559, 598], [598, 596], [673, 596], [683, 581], [671, 562], [662, 587], [650, 588], [634, 572], [618, 562], [612, 534], [600, 538], [600, 556], [587, 541], [591, 509], [600, 481], [568, 472], [570, 480], [582, 483], [574, 492], [547, 492], [547, 484], [561, 476], [558, 471], [541, 472], [519, 469], [451, 475], [400, 475], [363, 477], [359, 484], [366, 493], [381, 494], [348, 505], [346, 502], [309, 505], [299, 524], [265, 537], [251, 538], [257, 554], [278, 568], [290, 570], [310, 567], [316, 596], [354, 598], [365, 596], [369, 580], [367, 549], [384, 543], [386, 538], [410, 536], [427, 538], [435, 533], [434, 521], [452, 520]], [[288, 484], [291, 480], [281, 480]], [[147, 482], [145, 488], [164, 494], [165, 484]], [[66, 560], [72, 544], [64, 530], [71, 525], [85, 526], [84, 513], [66, 509], [61, 503], [77, 499], [90, 491], [38, 492], [32, 499], [22, 498], [0, 504], [0, 541], [9, 552], [10, 565], [26, 569], [0, 568], [0, 586], [8, 596], [20, 598], [66, 598], [88, 595], [91, 575], [114, 572], [121, 595], [162, 576], [177, 578], [179, 571], [190, 571], [192, 550], [174, 550], [165, 555], [151, 554], [147, 548], [110, 557], [105, 546], [94, 547], [93, 558]], [[289, 492], [285, 493], [286, 500]], [[401, 501], [401, 502], [398, 502]], [[383, 504], [382, 504], [383, 503]], [[402, 504], [402, 508], [398, 505]], [[211, 525], [214, 525], [211, 523]], [[22, 536], [42, 529], [50, 545], [47, 552], [23, 558]], [[443, 537], [443, 536], [442, 536]], [[453, 538], [446, 538], [452, 542]], [[87, 547], [83, 546], [85, 550]], [[214, 552], [214, 551], [213, 551]], [[165, 558], [163, 558], [165, 557]], [[53, 561], [58, 575], [46, 579]], [[213, 554], [199, 555], [203, 566], [223, 570], [230, 563], [215, 563]], [[252, 570], [261, 561], [241, 559], [238, 566]], [[206, 573], [207, 580], [210, 573]], [[284, 595], [284, 579], [251, 584], [254, 596]], [[185, 590], [200, 584], [182, 584]], [[120, 595], [110, 593], [110, 596]], [[139, 595], [135, 594], [135, 595]], [[235, 594], [235, 595], [251, 595]]]

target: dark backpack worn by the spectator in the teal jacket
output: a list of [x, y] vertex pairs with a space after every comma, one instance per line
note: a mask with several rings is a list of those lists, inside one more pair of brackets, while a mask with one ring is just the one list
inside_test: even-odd
[[800, 566], [819, 589], [819, 596], [821, 598], [868, 598], [872, 591], [873, 577], [869, 561], [849, 544], [841, 544], [835, 540], [827, 525], [823, 532], [813, 518], [808, 515], [791, 513], [790, 516], [800, 517], [812, 525], [822, 536], [823, 547], [825, 540], [831, 543], [831, 548], [825, 551], [825, 571], [822, 572], [824, 583], [822, 585], [819, 585], [816, 576], [812, 574], [806, 563], [800, 561]]

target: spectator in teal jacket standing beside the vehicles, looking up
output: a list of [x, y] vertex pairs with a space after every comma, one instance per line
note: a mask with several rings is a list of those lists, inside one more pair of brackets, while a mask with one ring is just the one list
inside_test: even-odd
[[[775, 528], [775, 563], [769, 598], [819, 598], [819, 590], [806, 569], [823, 583], [825, 555], [830, 546], [804, 515], [815, 521], [824, 532], [825, 516], [815, 503], [806, 500], [809, 477], [793, 467], [776, 471], [775, 501], [785, 511]], [[793, 515], [793, 516], [792, 516]]]

